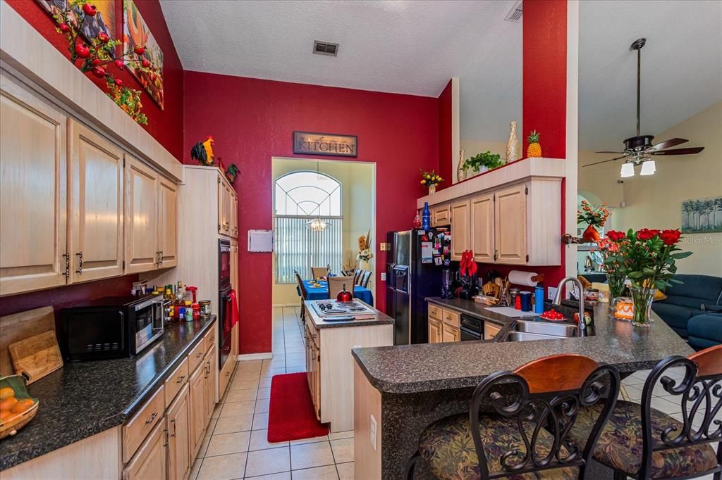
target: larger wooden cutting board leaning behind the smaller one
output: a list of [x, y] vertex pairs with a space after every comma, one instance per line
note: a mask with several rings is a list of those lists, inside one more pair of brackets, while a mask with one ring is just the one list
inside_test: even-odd
[[[55, 337], [55, 315], [51, 306], [34, 308], [0, 317], [0, 375], [14, 375], [16, 373], [10, 355], [10, 345], [45, 332], [53, 332], [53, 337]], [[57, 340], [55, 344], [57, 345]], [[57, 368], [60, 368], [63, 365], [62, 356], [58, 353], [58, 357], [61, 360]], [[53, 365], [56, 363], [57, 361], [53, 360]], [[43, 375], [47, 375], [51, 371], [57, 370], [57, 368]], [[44, 368], [41, 370], [44, 370]], [[35, 375], [38, 375], [38, 373], [36, 372]], [[38, 380], [38, 378], [40, 377], [35, 376], [33, 380]]]

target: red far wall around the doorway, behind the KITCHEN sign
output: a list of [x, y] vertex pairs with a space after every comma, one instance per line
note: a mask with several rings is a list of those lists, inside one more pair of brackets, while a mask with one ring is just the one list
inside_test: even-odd
[[[386, 232], [409, 228], [423, 195], [420, 169], [438, 169], [435, 98], [186, 71], [184, 152], [213, 135], [214, 154], [240, 169], [235, 182], [240, 225], [242, 353], [271, 351], [271, 254], [248, 253], [248, 229], [272, 227], [271, 156], [297, 156], [292, 132], [358, 135], [358, 161], [376, 163], [375, 303], [386, 306], [380, 272]], [[184, 161], [190, 162], [186, 153]], [[298, 156], [313, 158], [308, 156]], [[333, 157], [328, 157], [332, 159]]]

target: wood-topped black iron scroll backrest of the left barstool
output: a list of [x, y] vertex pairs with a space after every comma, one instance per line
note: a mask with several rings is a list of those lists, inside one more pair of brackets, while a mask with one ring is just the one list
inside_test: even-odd
[[[579, 478], [583, 478], [583, 471], [618, 395], [617, 369], [599, 365], [583, 355], [542, 357], [513, 372], [497, 372], [484, 378], [471, 396], [469, 409], [471, 436], [482, 480], [573, 466], [580, 469]], [[502, 455], [503, 471], [490, 472], [487, 466], [479, 430], [479, 414], [485, 401], [491, 403], [496, 414], [516, 419], [514, 425], [518, 427], [518, 435], [527, 445], [526, 452], [510, 450]], [[601, 414], [586, 445], [575, 445], [567, 434], [579, 409], [594, 404], [603, 405]], [[548, 451], [537, 445], [541, 429], [548, 430], [554, 438]], [[580, 447], [583, 447], [582, 451]]]

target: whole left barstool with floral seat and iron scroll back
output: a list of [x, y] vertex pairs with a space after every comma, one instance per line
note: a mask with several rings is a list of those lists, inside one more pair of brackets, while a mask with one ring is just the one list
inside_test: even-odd
[[[618, 394], [617, 369], [583, 355], [492, 373], [474, 390], [469, 413], [426, 427], [406, 478], [422, 461], [438, 479], [583, 479]], [[580, 406], [593, 405], [601, 414], [588, 439], [574, 443], [568, 434]]]

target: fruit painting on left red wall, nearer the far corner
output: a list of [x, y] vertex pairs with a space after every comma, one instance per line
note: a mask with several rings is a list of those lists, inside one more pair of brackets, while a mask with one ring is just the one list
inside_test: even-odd
[[155, 41], [147, 23], [144, 21], [133, 0], [123, 0], [123, 48], [134, 50], [136, 46], [145, 48], [143, 57], [148, 62], [147, 70], [137, 68], [130, 63], [128, 69], [143, 85], [148, 95], [163, 110], [163, 51]]

